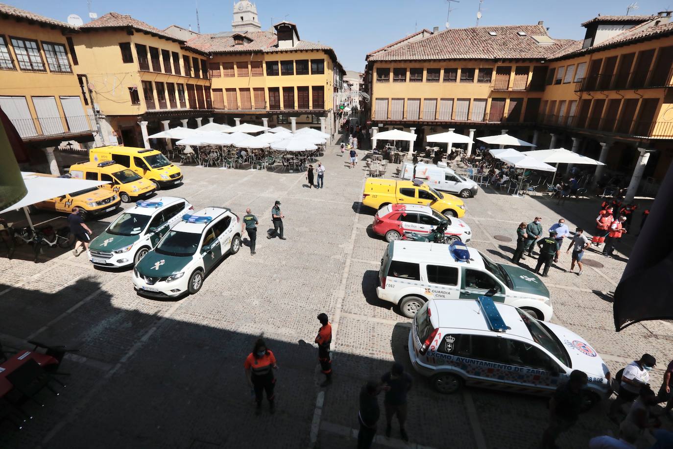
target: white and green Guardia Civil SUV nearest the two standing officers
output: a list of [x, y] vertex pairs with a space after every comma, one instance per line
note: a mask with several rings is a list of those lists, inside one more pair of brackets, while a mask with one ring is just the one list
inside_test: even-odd
[[219, 260], [241, 248], [240, 230], [238, 215], [226, 207], [182, 215], [182, 221], [135, 266], [135, 289], [160, 298], [197, 293]]

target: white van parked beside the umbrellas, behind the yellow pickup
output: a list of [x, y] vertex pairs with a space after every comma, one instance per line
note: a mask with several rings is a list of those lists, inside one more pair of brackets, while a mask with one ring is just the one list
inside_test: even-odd
[[437, 165], [419, 162], [414, 166], [411, 162], [404, 162], [400, 171], [400, 179], [422, 179], [438, 191], [456, 193], [461, 198], [470, 198], [479, 190], [476, 182], [464, 178], [448, 168], [446, 162]]

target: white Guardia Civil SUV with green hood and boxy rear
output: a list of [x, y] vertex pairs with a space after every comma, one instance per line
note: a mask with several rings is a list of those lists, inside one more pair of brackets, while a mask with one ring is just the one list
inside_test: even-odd
[[522, 308], [540, 320], [551, 319], [549, 290], [537, 275], [495, 263], [460, 242], [390, 242], [381, 259], [376, 296], [413, 318], [431, 299], [474, 300], [490, 289], [495, 289], [496, 302]]

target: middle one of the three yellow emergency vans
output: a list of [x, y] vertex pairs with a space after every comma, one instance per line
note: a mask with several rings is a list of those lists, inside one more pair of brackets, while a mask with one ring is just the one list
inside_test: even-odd
[[109, 181], [110, 184], [101, 187], [119, 195], [122, 203], [130, 203], [131, 199], [146, 198], [155, 191], [153, 182], [114, 161], [73, 164], [70, 166], [70, 176], [92, 181]]

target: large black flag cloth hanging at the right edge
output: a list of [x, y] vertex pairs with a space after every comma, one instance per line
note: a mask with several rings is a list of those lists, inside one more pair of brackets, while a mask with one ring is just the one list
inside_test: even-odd
[[673, 319], [673, 164], [614, 291], [614, 329]]

